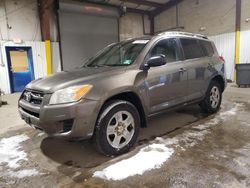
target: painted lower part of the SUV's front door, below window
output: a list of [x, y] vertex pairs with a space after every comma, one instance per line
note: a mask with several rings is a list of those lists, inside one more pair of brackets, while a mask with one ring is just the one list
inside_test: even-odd
[[183, 62], [174, 62], [148, 71], [145, 87], [150, 102], [150, 113], [186, 101], [187, 72], [180, 72], [183, 66]]

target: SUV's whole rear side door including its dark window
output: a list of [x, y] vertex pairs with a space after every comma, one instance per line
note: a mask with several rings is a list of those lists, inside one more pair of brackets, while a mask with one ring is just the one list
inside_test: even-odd
[[200, 43], [202, 40], [182, 38], [180, 41], [188, 74], [187, 100], [196, 100], [206, 92], [205, 83], [211, 75], [211, 57], [205, 54]]

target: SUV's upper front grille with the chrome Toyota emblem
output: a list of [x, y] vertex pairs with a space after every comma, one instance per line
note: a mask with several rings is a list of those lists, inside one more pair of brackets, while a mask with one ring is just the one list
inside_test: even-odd
[[43, 102], [43, 96], [44, 94], [42, 92], [26, 90], [22, 98], [31, 104], [40, 105]]

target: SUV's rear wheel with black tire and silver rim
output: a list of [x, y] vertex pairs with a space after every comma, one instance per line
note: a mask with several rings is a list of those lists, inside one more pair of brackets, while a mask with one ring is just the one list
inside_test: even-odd
[[221, 85], [216, 81], [211, 81], [205, 99], [200, 103], [200, 107], [206, 113], [216, 113], [220, 109], [221, 100]]

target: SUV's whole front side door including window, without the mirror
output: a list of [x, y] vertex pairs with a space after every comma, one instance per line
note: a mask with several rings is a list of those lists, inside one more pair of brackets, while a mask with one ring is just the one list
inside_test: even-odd
[[187, 72], [183, 71], [179, 41], [175, 38], [158, 41], [147, 58], [157, 55], [165, 55], [167, 64], [148, 70], [145, 85], [151, 113], [183, 103], [187, 95]]

